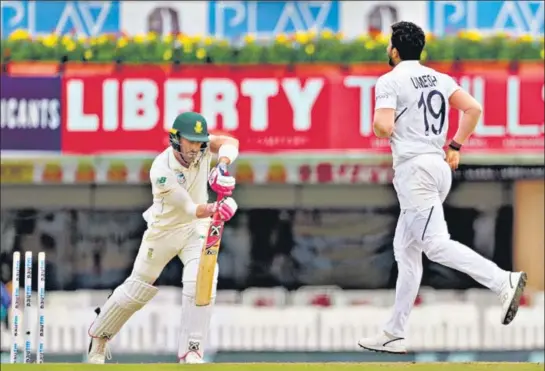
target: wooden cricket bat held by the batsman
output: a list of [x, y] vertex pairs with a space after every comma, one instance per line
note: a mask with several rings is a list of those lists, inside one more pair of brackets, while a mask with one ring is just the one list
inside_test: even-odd
[[[217, 202], [220, 202], [222, 198], [223, 195], [218, 195]], [[195, 295], [195, 304], [198, 307], [210, 305], [212, 300], [214, 271], [218, 261], [218, 253], [220, 250], [221, 235], [223, 233], [224, 223], [225, 222], [220, 219], [219, 213], [216, 212], [212, 217], [210, 228], [208, 228], [208, 234], [201, 251], [199, 273], [197, 274], [197, 293]]]

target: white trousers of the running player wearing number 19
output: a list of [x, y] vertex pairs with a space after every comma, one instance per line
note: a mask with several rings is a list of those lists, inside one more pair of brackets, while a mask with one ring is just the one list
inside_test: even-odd
[[469, 247], [450, 239], [443, 202], [452, 183], [452, 172], [437, 155], [421, 155], [395, 169], [401, 213], [394, 236], [398, 267], [392, 316], [384, 331], [405, 337], [409, 314], [422, 280], [422, 253], [436, 263], [456, 269], [499, 294], [508, 273]]

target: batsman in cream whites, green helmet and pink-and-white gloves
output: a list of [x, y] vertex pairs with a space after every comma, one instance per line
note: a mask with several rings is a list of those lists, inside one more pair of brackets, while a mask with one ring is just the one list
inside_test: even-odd
[[[88, 362], [110, 358], [107, 343], [123, 324], [157, 294], [153, 286], [167, 263], [177, 256], [184, 265], [182, 326], [178, 348], [180, 363], [203, 363], [212, 304], [195, 305], [196, 281], [201, 250], [211, 216], [228, 221], [237, 211], [231, 196], [235, 179], [227, 166], [238, 156], [238, 140], [210, 135], [206, 119], [186, 112], [176, 117], [169, 134], [170, 146], [159, 154], [150, 169], [152, 206], [144, 212], [147, 230], [129, 278], [117, 287], [89, 328]], [[212, 154], [218, 164], [210, 171]], [[207, 182], [220, 202], [208, 203]], [[216, 265], [212, 299], [216, 294]]]

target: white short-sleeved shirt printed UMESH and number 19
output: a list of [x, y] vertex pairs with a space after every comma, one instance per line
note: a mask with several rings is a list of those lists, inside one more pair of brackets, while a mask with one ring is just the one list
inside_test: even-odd
[[445, 156], [449, 98], [460, 87], [452, 77], [404, 61], [381, 76], [375, 87], [375, 109], [395, 109], [390, 143], [394, 168], [422, 154]]

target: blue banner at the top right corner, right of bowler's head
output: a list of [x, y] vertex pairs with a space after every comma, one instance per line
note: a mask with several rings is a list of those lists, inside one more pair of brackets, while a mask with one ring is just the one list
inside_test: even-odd
[[429, 29], [442, 36], [460, 30], [543, 36], [543, 0], [428, 1]]

